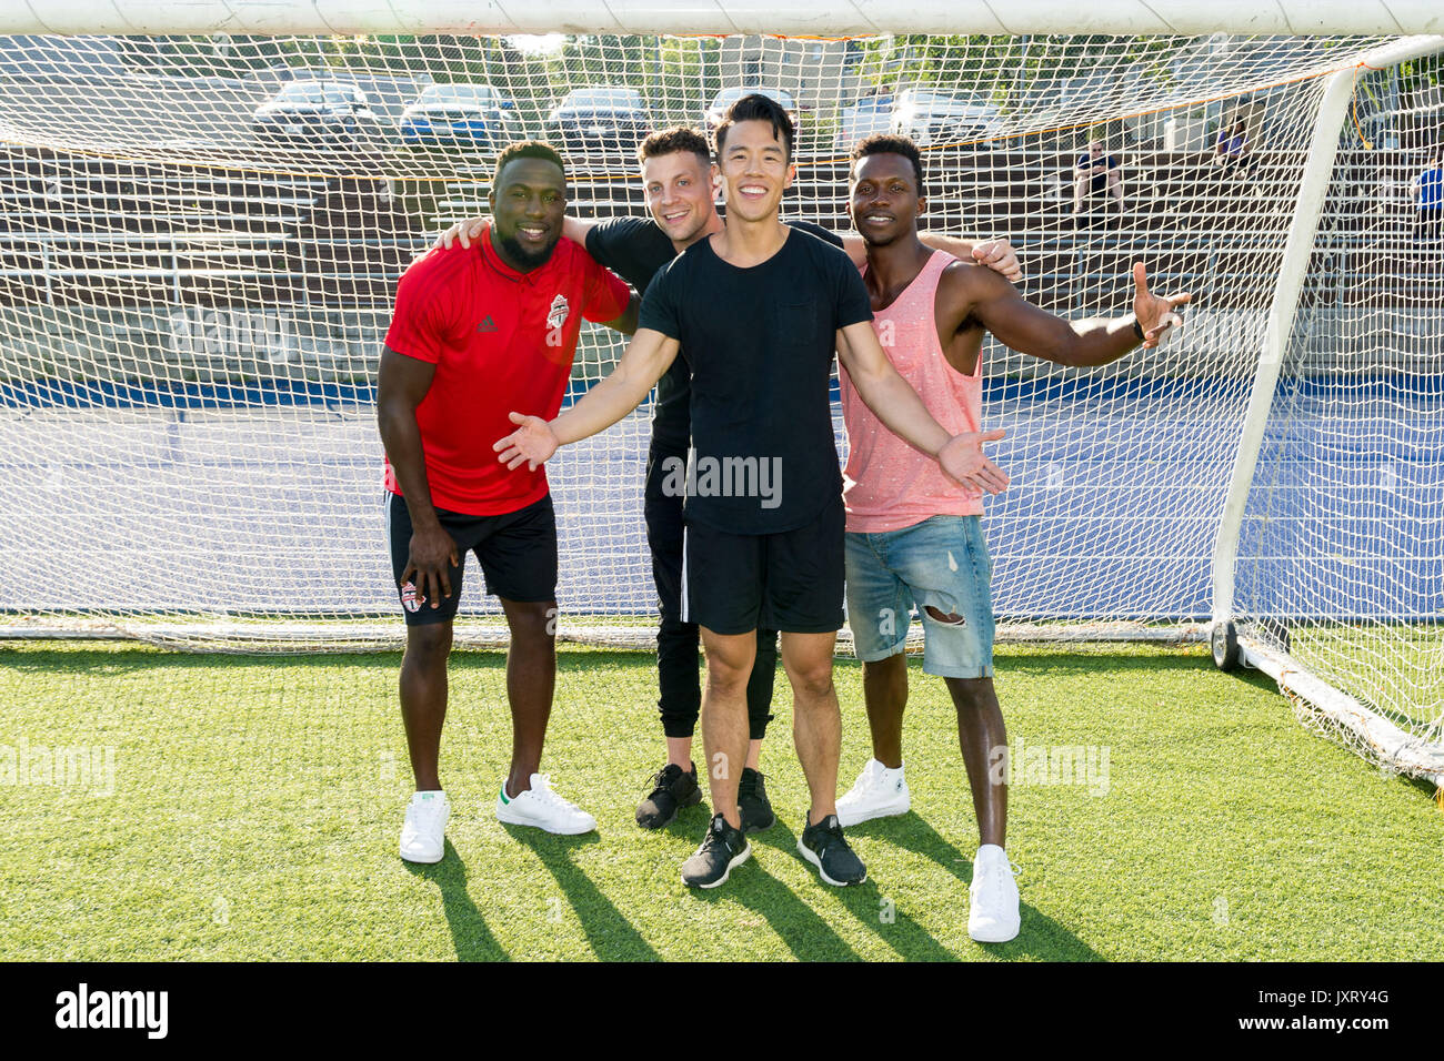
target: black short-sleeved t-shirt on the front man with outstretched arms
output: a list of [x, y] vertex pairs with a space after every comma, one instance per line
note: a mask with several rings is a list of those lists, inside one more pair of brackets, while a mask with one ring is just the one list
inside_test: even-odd
[[838, 502], [835, 336], [871, 319], [856, 266], [807, 232], [749, 268], [702, 240], [657, 273], [637, 326], [680, 341], [692, 368], [687, 520], [775, 534]]

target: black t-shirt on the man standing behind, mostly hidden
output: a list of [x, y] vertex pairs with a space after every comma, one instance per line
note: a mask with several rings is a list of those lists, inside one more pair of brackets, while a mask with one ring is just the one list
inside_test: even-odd
[[[788, 221], [793, 228], [842, 247], [842, 240], [810, 221]], [[592, 225], [586, 232], [586, 253], [622, 280], [645, 294], [651, 279], [677, 251], [667, 234], [651, 218], [612, 218]], [[684, 453], [692, 437], [692, 397], [683, 358], [671, 362], [657, 381], [657, 404], [651, 414], [651, 439], [658, 449]]]

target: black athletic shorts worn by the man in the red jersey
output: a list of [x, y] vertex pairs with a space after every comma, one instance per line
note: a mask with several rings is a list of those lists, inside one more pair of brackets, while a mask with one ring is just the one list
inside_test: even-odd
[[386, 528], [391, 540], [391, 577], [406, 612], [407, 626], [449, 622], [461, 603], [462, 572], [466, 553], [475, 553], [487, 592], [531, 603], [556, 599], [556, 511], [547, 494], [526, 508], [503, 515], [466, 515], [438, 508], [442, 528], [456, 540], [456, 554], [462, 563], [451, 569], [452, 595], [440, 606], [419, 601], [416, 586], [401, 585], [406, 560], [412, 551], [412, 514], [397, 494], [387, 495]]

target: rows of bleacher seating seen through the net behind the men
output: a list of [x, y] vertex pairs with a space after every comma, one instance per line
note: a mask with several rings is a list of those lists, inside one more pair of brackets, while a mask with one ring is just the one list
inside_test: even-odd
[[[1256, 305], [1295, 206], [1291, 183], [1269, 175], [1297, 175], [1300, 159], [1259, 152], [1251, 170], [1223, 172], [1196, 152], [1123, 156], [1126, 212], [1096, 227], [1071, 217], [1070, 157], [928, 157], [926, 227], [1006, 235], [1025, 257], [1025, 293], [1058, 312], [1116, 307], [1138, 257], [1213, 306]], [[1305, 306], [1440, 305], [1440, 253], [1412, 245], [1417, 166], [1406, 152], [1340, 156], [1331, 196], [1343, 209], [1320, 228]], [[462, 170], [407, 198], [383, 179], [10, 150], [0, 154], [0, 305], [384, 307], [439, 227], [484, 209], [487, 180], [485, 169]], [[843, 163], [804, 163], [799, 183], [788, 215], [848, 225]], [[579, 214], [645, 209], [631, 175], [578, 173], [572, 202]], [[1240, 228], [1255, 237], [1210, 235]]]

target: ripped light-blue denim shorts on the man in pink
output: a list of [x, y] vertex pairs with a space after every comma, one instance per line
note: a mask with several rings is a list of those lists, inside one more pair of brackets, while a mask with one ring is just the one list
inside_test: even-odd
[[[934, 515], [879, 534], [849, 531], [846, 557], [848, 624], [859, 660], [901, 652], [915, 606], [926, 674], [992, 677], [992, 560], [976, 515]], [[940, 621], [930, 606], [959, 621]]]

